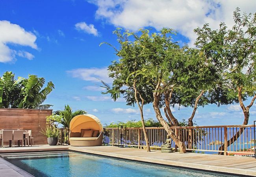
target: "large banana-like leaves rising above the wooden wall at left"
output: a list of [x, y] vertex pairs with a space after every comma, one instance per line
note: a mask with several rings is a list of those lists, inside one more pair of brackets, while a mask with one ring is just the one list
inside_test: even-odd
[[0, 78], [0, 107], [21, 109], [48, 109], [51, 105], [41, 105], [54, 89], [50, 81], [43, 89], [45, 78], [29, 75], [28, 79], [5, 72]]

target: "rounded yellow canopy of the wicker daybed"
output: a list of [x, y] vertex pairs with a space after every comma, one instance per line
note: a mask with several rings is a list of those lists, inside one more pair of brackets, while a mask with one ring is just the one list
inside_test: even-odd
[[92, 114], [75, 116], [70, 121], [69, 128], [71, 132], [80, 132], [81, 129], [94, 129], [103, 132], [100, 120]]

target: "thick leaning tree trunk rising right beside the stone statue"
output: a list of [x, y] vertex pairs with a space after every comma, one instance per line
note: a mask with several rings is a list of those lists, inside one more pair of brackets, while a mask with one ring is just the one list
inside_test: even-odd
[[153, 96], [154, 96], [153, 108], [154, 108], [154, 111], [156, 113], [156, 118], [158, 119], [160, 124], [163, 125], [163, 127], [165, 128], [165, 131], [167, 131], [168, 135], [171, 136], [171, 138], [173, 139], [175, 144], [179, 147], [180, 153], [186, 153], [185, 143], [179, 140], [178, 136], [175, 135], [173, 130], [169, 127], [169, 125], [167, 124], [167, 122], [165, 122], [165, 120], [163, 119], [163, 117], [161, 115], [161, 111], [160, 111], [160, 108], [159, 108], [159, 98], [158, 98], [159, 95], [158, 95], [158, 93], [154, 92]]

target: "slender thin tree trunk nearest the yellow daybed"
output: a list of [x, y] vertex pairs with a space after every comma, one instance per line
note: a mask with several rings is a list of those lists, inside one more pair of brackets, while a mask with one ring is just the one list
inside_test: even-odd
[[139, 107], [139, 112], [141, 113], [141, 123], [142, 123], [142, 129], [143, 129], [143, 133], [144, 133], [144, 137], [145, 137], [147, 152], [150, 152], [148, 135], [147, 135], [147, 131], [146, 131], [146, 128], [145, 128], [145, 122], [144, 122], [144, 116], [143, 116], [144, 99], [142, 98], [141, 94], [139, 94], [139, 96], [141, 98], [141, 105], [140, 105], [139, 104], [139, 99], [138, 99], [138, 96], [137, 96], [137, 89], [136, 89], [136, 85], [135, 84], [136, 84], [136, 80], [134, 81], [134, 96], [135, 96], [135, 100], [137, 102], [137, 105]]

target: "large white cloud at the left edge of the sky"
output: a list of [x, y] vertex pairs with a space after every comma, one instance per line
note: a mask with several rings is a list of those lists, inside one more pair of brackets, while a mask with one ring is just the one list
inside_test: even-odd
[[[12, 24], [6, 20], [0, 20], [0, 62], [7, 63], [15, 61], [15, 56], [33, 59], [33, 55], [26, 51], [13, 50], [9, 45], [29, 46], [37, 49], [35, 43], [37, 37], [17, 24]], [[7, 46], [8, 45], [8, 46]]]

